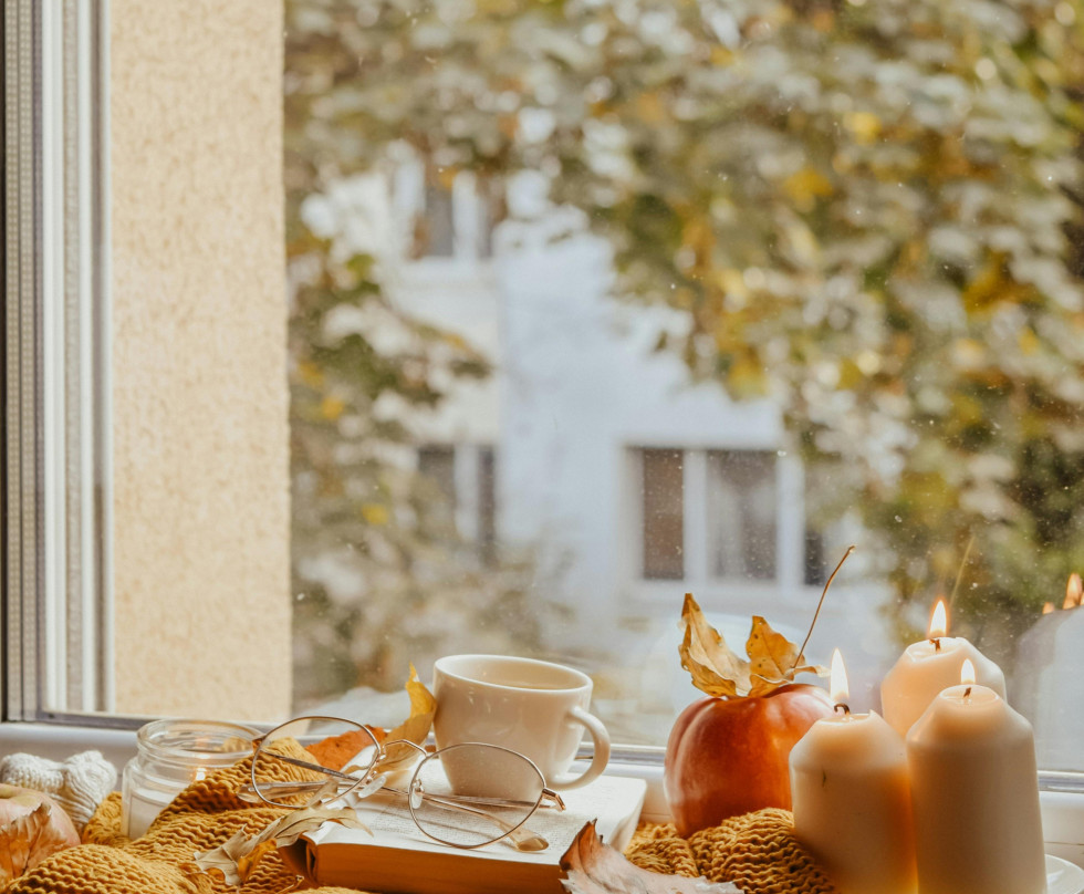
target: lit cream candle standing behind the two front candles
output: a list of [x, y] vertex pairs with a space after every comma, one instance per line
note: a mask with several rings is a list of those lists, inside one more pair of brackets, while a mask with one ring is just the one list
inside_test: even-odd
[[948, 615], [938, 600], [930, 617], [929, 638], [911, 643], [880, 683], [885, 719], [906, 737], [911, 725], [942, 689], [960, 682], [960, 668], [970, 661], [978, 683], [1005, 697], [1005, 675], [962, 636], [946, 636]]

